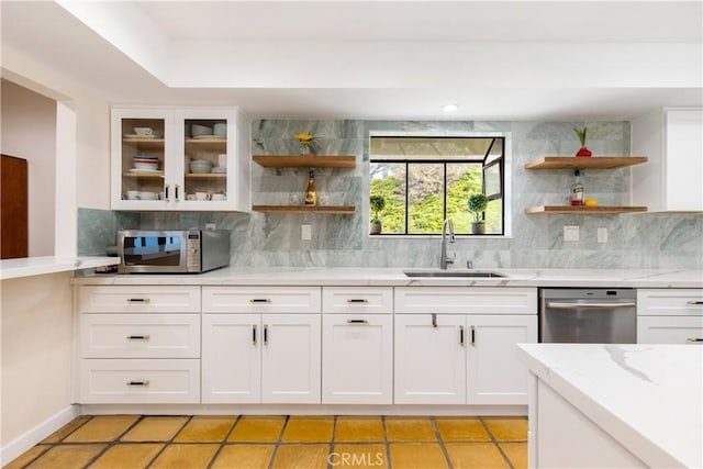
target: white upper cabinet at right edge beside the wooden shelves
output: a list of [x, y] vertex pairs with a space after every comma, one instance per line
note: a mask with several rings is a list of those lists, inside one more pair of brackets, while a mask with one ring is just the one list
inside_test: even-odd
[[665, 108], [634, 119], [632, 204], [649, 211], [703, 211], [703, 108]]

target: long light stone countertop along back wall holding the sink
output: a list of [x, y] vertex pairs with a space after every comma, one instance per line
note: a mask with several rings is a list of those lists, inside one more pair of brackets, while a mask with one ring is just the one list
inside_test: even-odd
[[[200, 275], [96, 275], [72, 279], [77, 284], [197, 284], [197, 286], [451, 286], [451, 287], [584, 287], [584, 288], [703, 288], [695, 270], [626, 269], [482, 269], [500, 278], [410, 278], [402, 268], [237, 268]], [[408, 268], [405, 270], [438, 270]], [[450, 269], [464, 271], [466, 269]]]

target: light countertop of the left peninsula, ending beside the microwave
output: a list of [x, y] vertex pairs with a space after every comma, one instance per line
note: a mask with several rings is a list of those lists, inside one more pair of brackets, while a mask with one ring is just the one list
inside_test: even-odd
[[0, 280], [67, 272], [78, 269], [114, 266], [116, 257], [54, 257], [37, 256], [0, 260]]

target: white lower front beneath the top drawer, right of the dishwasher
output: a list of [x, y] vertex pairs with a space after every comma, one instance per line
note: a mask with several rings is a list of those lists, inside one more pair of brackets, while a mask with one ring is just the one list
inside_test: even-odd
[[638, 316], [637, 343], [703, 346], [703, 316]]

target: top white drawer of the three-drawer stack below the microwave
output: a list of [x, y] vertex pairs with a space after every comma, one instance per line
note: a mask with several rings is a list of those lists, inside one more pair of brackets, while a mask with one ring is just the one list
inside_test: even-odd
[[83, 313], [199, 313], [200, 287], [80, 287]]

